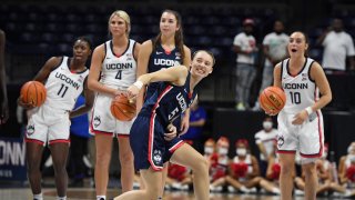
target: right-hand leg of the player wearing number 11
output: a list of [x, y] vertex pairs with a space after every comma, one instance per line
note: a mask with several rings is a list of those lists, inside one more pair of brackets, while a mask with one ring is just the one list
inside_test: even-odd
[[58, 197], [65, 197], [67, 188], [68, 188], [67, 159], [69, 153], [69, 143], [68, 142], [51, 143], [50, 150], [53, 159]]

